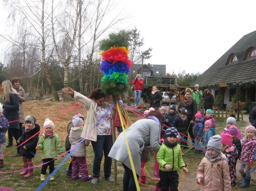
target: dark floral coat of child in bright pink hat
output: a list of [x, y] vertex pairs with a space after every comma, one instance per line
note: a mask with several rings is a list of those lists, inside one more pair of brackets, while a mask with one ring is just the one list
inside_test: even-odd
[[227, 158], [227, 163], [229, 167], [231, 187], [233, 187], [237, 183], [237, 172], [236, 172], [235, 162], [238, 156], [238, 151], [234, 144], [232, 144], [232, 146], [229, 149], [226, 149], [225, 156]]

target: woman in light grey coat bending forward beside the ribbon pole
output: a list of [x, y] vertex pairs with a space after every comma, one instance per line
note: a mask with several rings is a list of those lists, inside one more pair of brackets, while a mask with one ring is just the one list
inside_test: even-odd
[[[163, 120], [164, 116], [159, 111], [153, 111], [146, 115], [145, 119], [136, 121], [125, 130], [137, 179], [140, 176], [140, 160], [143, 149], [149, 152], [153, 150], [157, 152], [160, 149], [160, 131]], [[117, 137], [108, 156], [123, 165], [123, 190], [136, 190], [123, 132]]]

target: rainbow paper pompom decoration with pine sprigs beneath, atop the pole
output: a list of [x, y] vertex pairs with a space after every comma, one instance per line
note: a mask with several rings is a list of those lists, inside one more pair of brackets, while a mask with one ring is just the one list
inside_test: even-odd
[[128, 58], [129, 50], [125, 47], [111, 47], [108, 51], [101, 52], [101, 90], [106, 96], [112, 95], [119, 98], [128, 88], [128, 73], [132, 66], [132, 61]]

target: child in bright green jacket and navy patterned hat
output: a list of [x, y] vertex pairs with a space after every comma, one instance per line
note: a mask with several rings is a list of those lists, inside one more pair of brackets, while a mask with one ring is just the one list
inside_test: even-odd
[[165, 137], [156, 156], [160, 169], [161, 190], [167, 190], [169, 187], [172, 190], [178, 190], [179, 174], [177, 170], [181, 168], [184, 173], [188, 173], [188, 169], [185, 167], [181, 148], [177, 142], [177, 137], [179, 137], [177, 129], [175, 127], [166, 129]]

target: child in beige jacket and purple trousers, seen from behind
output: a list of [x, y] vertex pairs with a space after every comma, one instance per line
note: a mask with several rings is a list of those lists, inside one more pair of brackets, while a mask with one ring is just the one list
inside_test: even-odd
[[[72, 123], [74, 127], [71, 128], [69, 134], [69, 142], [71, 144], [71, 151], [80, 143], [83, 138], [81, 137], [84, 122], [78, 116], [74, 116], [72, 119]], [[88, 175], [87, 162], [86, 162], [86, 148], [90, 142], [88, 140], [84, 140], [79, 146], [74, 150], [71, 154], [72, 156], [72, 179], [78, 178], [78, 173], [82, 175], [82, 180], [87, 181], [90, 180], [91, 176]]]

